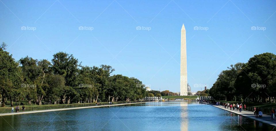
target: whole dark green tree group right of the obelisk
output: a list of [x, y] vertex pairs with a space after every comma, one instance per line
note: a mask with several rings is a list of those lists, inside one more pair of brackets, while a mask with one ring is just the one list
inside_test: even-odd
[[247, 63], [223, 70], [209, 91], [216, 100], [275, 102], [276, 55], [254, 55]]

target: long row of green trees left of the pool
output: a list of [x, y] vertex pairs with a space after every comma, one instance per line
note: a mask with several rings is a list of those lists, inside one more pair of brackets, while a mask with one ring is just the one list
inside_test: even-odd
[[137, 101], [149, 96], [134, 77], [112, 75], [110, 65], [83, 66], [72, 54], [58, 52], [53, 59], [22, 57], [16, 61], [7, 45], [0, 45], [0, 98], [42, 105]]

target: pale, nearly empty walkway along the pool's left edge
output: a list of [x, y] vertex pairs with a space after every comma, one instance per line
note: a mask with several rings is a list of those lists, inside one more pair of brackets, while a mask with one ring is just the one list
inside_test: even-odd
[[[156, 101], [151, 101], [156, 102]], [[0, 116], [3, 115], [19, 115], [19, 114], [28, 114], [28, 113], [38, 113], [38, 112], [48, 112], [48, 111], [62, 111], [62, 110], [72, 110], [72, 109], [83, 109], [83, 108], [95, 108], [95, 107], [108, 107], [108, 106], [117, 106], [117, 105], [130, 105], [130, 104], [139, 104], [139, 103], [147, 103], [147, 102], [137, 102], [137, 103], [123, 103], [123, 104], [114, 104], [114, 105], [98, 105], [98, 106], [87, 106], [87, 107], [73, 107], [73, 108], [61, 108], [61, 109], [49, 109], [49, 110], [38, 110], [38, 111], [25, 111], [19, 113], [1, 113]]]

